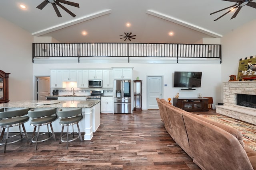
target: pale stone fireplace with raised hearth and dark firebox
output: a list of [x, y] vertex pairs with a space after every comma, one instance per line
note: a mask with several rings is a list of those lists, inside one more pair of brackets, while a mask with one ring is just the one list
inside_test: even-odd
[[224, 82], [223, 90], [224, 105], [216, 106], [216, 113], [256, 125], [256, 81]]

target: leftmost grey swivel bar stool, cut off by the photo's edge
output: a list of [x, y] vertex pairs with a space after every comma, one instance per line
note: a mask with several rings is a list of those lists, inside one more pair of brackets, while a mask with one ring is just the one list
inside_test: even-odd
[[[26, 137], [26, 140], [28, 142], [28, 135], [26, 133], [26, 129], [24, 126], [24, 123], [27, 122], [29, 119], [28, 116], [24, 116], [24, 115], [28, 114], [28, 110], [29, 110], [29, 108], [26, 108], [26, 109], [6, 108], [4, 111], [0, 112], [0, 128], [3, 128], [1, 136], [0, 136], [0, 145], [4, 145], [3, 153], [5, 153], [6, 145], [11, 144], [11, 143], [16, 143], [16, 142], [22, 140], [23, 135]], [[21, 131], [20, 125], [22, 125], [23, 133]], [[14, 127], [14, 126], [19, 126], [20, 133], [9, 136], [9, 128]], [[4, 132], [5, 132], [6, 128], [7, 128], [6, 138], [3, 139]], [[20, 139], [18, 139], [16, 141], [8, 142], [9, 138], [16, 137], [18, 135], [20, 135]]]

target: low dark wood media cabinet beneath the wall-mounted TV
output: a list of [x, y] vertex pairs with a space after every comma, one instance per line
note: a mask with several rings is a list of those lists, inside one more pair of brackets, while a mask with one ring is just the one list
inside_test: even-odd
[[186, 111], [208, 111], [208, 98], [173, 98], [173, 106]]

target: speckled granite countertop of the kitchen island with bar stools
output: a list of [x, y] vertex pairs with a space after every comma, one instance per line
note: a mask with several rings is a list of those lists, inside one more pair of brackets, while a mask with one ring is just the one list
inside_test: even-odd
[[[36, 103], [45, 100], [23, 100], [0, 104], [0, 108], [91, 108], [100, 103], [100, 100], [86, 101], [60, 101], [57, 104], [38, 105]], [[51, 101], [51, 100], [50, 100]], [[54, 100], [57, 101], [57, 100]]]

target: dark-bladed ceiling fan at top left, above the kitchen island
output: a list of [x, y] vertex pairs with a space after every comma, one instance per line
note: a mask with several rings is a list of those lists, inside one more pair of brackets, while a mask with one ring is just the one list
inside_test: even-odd
[[74, 13], [72, 13], [70, 10], [68, 10], [66, 7], [64, 7], [60, 3], [71, 5], [71, 6], [79, 8], [79, 4], [78, 3], [74, 3], [74, 2], [70, 2], [70, 1], [66, 1], [66, 0], [44, 0], [36, 8], [42, 10], [49, 2], [52, 4], [52, 7], [54, 8], [54, 10], [55, 10], [55, 12], [56, 12], [58, 17], [62, 17], [62, 16], [61, 16], [60, 11], [58, 10], [56, 5], [58, 5], [60, 8], [62, 8], [64, 11], [68, 12], [68, 14], [70, 14], [72, 17], [76, 16]]

